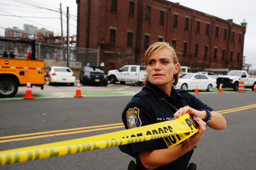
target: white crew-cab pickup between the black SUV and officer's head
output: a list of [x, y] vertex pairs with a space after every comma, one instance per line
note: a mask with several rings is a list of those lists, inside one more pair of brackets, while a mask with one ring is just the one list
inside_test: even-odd
[[120, 84], [125, 84], [126, 81], [141, 84], [146, 74], [144, 65], [125, 65], [118, 70], [108, 71], [107, 77], [111, 84], [115, 84], [117, 81], [120, 81]]

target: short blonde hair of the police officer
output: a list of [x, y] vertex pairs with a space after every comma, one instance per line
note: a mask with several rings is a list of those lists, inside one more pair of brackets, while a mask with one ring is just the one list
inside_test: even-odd
[[[156, 42], [156, 43], [150, 45], [144, 55], [144, 64], [147, 65], [149, 63], [149, 61], [152, 59], [152, 57], [156, 53], [160, 52], [162, 49], [169, 49], [173, 56], [173, 63], [179, 64], [175, 50], [173, 49], [173, 47], [170, 46], [169, 43], [166, 43], [166, 42]], [[178, 79], [179, 79], [179, 74], [181, 72], [182, 72], [182, 69], [181, 69], [181, 65], [179, 64], [178, 72], [173, 75], [173, 84], [172, 84], [173, 86], [177, 85]], [[148, 74], [146, 75], [146, 77], [143, 80], [144, 80], [143, 84], [146, 85], [146, 82], [149, 81]]]

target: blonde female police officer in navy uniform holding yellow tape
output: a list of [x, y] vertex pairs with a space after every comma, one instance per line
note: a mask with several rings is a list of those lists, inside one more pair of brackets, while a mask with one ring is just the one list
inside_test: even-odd
[[[168, 148], [162, 138], [132, 144], [133, 153], [137, 155], [137, 167], [186, 169], [193, 148], [203, 136], [206, 123], [215, 130], [225, 129], [225, 118], [186, 90], [173, 88], [178, 82], [181, 67], [169, 43], [152, 44], [145, 53], [144, 64], [147, 71], [145, 86], [131, 99], [122, 113], [126, 129], [177, 119], [189, 113], [198, 123], [199, 131], [172, 148]], [[137, 113], [133, 115], [137, 123], [129, 119], [128, 112], [132, 110]]]

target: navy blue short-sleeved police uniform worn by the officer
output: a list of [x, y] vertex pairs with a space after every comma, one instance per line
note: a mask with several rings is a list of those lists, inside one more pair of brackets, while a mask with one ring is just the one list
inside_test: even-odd
[[[157, 86], [147, 83], [143, 87], [142, 91], [135, 94], [130, 102], [126, 105], [122, 113], [122, 120], [126, 129], [141, 127], [145, 125], [151, 125], [168, 120], [174, 120], [175, 110], [169, 105], [171, 103], [177, 109], [190, 106], [196, 110], [207, 109], [213, 111], [213, 109], [194, 95], [187, 93], [183, 89], [171, 89], [171, 96], [168, 96], [165, 92], [159, 89]], [[166, 101], [164, 101], [164, 100]], [[156, 132], [161, 133], [161, 132]], [[144, 142], [137, 142], [132, 144], [133, 153], [135, 155], [140, 151], [153, 151], [158, 149], [168, 148], [165, 141], [160, 139], [154, 139]], [[193, 153], [193, 150], [187, 152], [185, 155], [179, 157], [175, 161], [158, 167], [156, 169], [186, 169], [189, 159]], [[139, 157], [136, 158], [136, 163], [139, 169], [146, 169], [143, 167]]]

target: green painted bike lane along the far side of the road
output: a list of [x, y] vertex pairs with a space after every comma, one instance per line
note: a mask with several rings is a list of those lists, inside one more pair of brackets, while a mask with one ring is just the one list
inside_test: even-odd
[[[103, 97], [103, 96], [134, 96], [140, 90], [134, 91], [98, 91], [98, 92], [82, 92], [83, 97]], [[223, 93], [238, 93], [232, 90], [222, 90]], [[251, 90], [245, 90], [245, 92], [251, 92]], [[189, 93], [194, 94], [193, 91], [189, 91]], [[205, 90], [200, 91], [200, 93], [218, 93], [218, 90], [213, 90], [211, 92], [207, 92]], [[239, 92], [241, 93], [241, 92]], [[40, 92], [33, 93], [35, 98], [70, 98], [74, 97], [75, 92]], [[14, 97], [6, 97], [5, 99], [22, 99], [25, 96], [25, 93], [17, 93]]]

